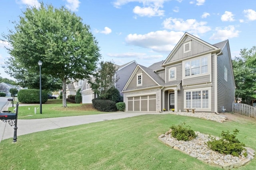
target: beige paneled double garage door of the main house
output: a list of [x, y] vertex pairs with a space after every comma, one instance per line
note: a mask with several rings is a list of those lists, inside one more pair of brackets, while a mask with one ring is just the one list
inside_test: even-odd
[[128, 111], [156, 112], [156, 95], [127, 97]]

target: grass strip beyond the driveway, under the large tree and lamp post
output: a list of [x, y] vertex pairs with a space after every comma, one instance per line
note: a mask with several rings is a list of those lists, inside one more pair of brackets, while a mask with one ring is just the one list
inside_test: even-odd
[[[67, 103], [68, 107], [62, 107], [62, 99], [48, 99], [48, 101], [42, 104], [42, 114], [40, 114], [40, 105], [28, 105], [18, 107], [18, 119], [41, 119], [51, 117], [66, 117], [66, 116], [78, 116], [78, 115], [95, 115], [106, 112], [97, 111], [92, 107], [92, 104], [74, 104]], [[34, 108], [36, 107], [36, 114]], [[9, 111], [13, 111], [16, 108], [9, 107]]]

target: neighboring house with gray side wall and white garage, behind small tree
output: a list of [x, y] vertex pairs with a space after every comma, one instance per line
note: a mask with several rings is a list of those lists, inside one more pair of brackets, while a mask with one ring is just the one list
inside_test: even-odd
[[[115, 83], [115, 87], [120, 92], [124, 88], [124, 85], [128, 81], [130, 75], [134, 71], [137, 64], [138, 63], [134, 60], [121, 66], [116, 64], [114, 65], [117, 69], [115, 76], [118, 79], [117, 82]], [[94, 82], [93, 77], [91, 81]], [[94, 91], [92, 91], [92, 88], [90, 87], [90, 83], [88, 83], [88, 80], [84, 80], [80, 93], [82, 94], [82, 103], [92, 103], [92, 99], [97, 97], [97, 94], [95, 94]], [[120, 93], [120, 95], [122, 94], [123, 93]]]

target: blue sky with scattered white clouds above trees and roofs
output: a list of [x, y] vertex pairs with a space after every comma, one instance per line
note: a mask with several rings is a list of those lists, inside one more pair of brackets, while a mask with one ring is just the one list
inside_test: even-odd
[[[13, 21], [26, 6], [39, 0], [1, 0], [0, 34], [14, 28]], [[254, 0], [43, 0], [55, 8], [66, 6], [99, 42], [102, 60], [115, 64], [136, 60], [149, 65], [164, 60], [185, 32], [214, 44], [229, 40], [232, 58], [240, 49], [256, 45]], [[0, 38], [2, 39], [2, 37]], [[13, 79], [1, 67], [9, 54], [0, 40], [0, 76]]]

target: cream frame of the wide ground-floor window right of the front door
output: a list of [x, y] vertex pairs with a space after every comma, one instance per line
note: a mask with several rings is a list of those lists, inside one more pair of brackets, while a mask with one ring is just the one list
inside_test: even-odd
[[[201, 94], [201, 99], [200, 99], [200, 108], [194, 108], [193, 107], [193, 92], [196, 92], [196, 91], [200, 91], [200, 94]], [[203, 91], [208, 91], [208, 108], [203, 108], [204, 107], [204, 100], [203, 99]], [[187, 97], [187, 92], [190, 92], [190, 100], [189, 100], [189, 105], [190, 107], [187, 107], [187, 100], [186, 100], [186, 97]], [[211, 111], [211, 102], [212, 102], [212, 90], [210, 87], [202, 87], [202, 88], [195, 88], [195, 89], [184, 89], [184, 108], [194, 108], [198, 111]]]

